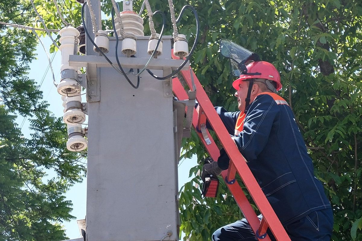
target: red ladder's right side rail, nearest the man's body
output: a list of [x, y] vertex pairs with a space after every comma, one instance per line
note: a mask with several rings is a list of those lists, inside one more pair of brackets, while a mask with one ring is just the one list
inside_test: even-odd
[[[226, 127], [224, 126], [223, 122], [221, 121], [219, 115], [216, 113], [214, 106], [212, 105], [212, 103], [211, 103], [209, 97], [207, 96], [205, 90], [203, 89], [201, 83], [198, 81], [198, 78], [196, 77], [195, 73], [193, 71], [190, 72], [189, 70], [181, 70], [182, 77], [185, 79], [186, 83], [189, 86], [192, 86], [192, 80], [191, 80], [190, 73], [193, 75], [194, 85], [196, 86], [196, 89], [197, 89], [196, 99], [197, 99], [199, 105], [202, 107], [203, 111], [205, 112], [205, 115], [206, 115], [207, 119], [209, 120], [210, 125], [212, 126], [218, 139], [222, 143], [224, 150], [230, 157], [231, 162], [233, 163], [233, 165], [235, 165], [235, 168], [236, 168], [237, 172], [239, 173], [241, 180], [245, 184], [245, 187], [247, 188], [249, 194], [251, 195], [256, 206], [258, 207], [259, 211], [263, 215], [263, 219], [264, 219], [263, 223], [268, 224], [271, 232], [274, 234], [274, 237], [278, 241], [290, 241], [288, 234], [286, 233], [284, 227], [280, 223], [273, 208], [271, 208], [268, 199], [266, 199], [264, 193], [262, 192], [259, 184], [255, 180], [255, 178], [254, 178], [251, 170], [249, 169], [248, 165], [246, 164], [246, 162], [233, 161], [233, 160], [245, 160], [245, 158], [241, 155], [240, 151], [237, 149], [235, 142], [233, 142], [233, 140], [230, 138], [230, 135], [227, 132]], [[186, 98], [188, 98], [188, 97], [186, 97]], [[197, 116], [197, 115], [194, 115], [194, 116]], [[201, 138], [201, 139], [203, 140], [203, 138]], [[218, 156], [219, 156], [219, 154], [217, 155], [217, 157]], [[211, 157], [214, 160], [217, 160], [217, 158], [214, 158], [213, 156], [211, 156]], [[235, 182], [234, 184], [228, 185], [229, 189], [231, 190], [231, 189], [235, 188], [234, 186], [239, 186], [236, 184], [237, 183]], [[236, 190], [234, 190], [234, 191], [236, 191]], [[240, 190], [238, 190], [238, 192], [240, 192]], [[248, 215], [245, 215], [245, 218], [247, 218], [247, 220], [248, 220]], [[250, 220], [250, 221], [252, 221], [252, 220]], [[254, 225], [252, 226], [252, 229], [255, 233], [257, 232], [257, 230], [260, 226], [259, 221], [258, 221], [258, 223], [259, 224], [258, 224], [258, 227], [256, 228], [256, 230], [254, 229], [255, 226]], [[263, 239], [263, 240], [265, 240], [265, 239]]]

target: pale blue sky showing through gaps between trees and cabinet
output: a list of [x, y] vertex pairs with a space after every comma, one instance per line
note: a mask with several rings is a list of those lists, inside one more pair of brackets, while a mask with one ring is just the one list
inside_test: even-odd
[[[42, 41], [45, 44], [46, 50], [49, 53], [49, 46], [51, 44], [50, 38], [42, 38]], [[61, 100], [61, 96], [56, 91], [56, 87], [53, 85], [52, 74], [50, 69], [48, 69], [48, 59], [45, 51], [41, 44], [37, 47], [37, 60], [34, 60], [30, 64], [30, 73], [29, 77], [34, 79], [38, 84], [41, 84], [40, 89], [43, 91], [43, 98], [49, 104], [49, 110], [54, 113], [56, 117], [63, 116], [63, 101]], [[52, 60], [52, 68], [54, 70], [54, 76], [56, 83], [60, 81], [60, 51], [50, 54], [50, 59]], [[83, 102], [85, 102], [84, 95], [82, 96]], [[23, 122], [24, 118], [19, 117], [17, 122], [19, 125]], [[22, 132], [25, 137], [29, 137], [29, 122], [24, 121], [22, 125]], [[180, 162], [178, 168], [178, 183], [179, 188], [185, 184], [185, 182], [189, 181], [189, 170], [191, 167], [196, 165], [195, 158], [186, 159]], [[51, 173], [51, 172], [50, 172]], [[49, 174], [49, 178], [51, 178], [51, 174]], [[79, 233], [79, 229], [77, 226], [76, 220], [85, 218], [85, 208], [86, 208], [86, 194], [87, 194], [87, 179], [83, 181], [81, 184], [75, 184], [67, 193], [66, 197], [68, 200], [71, 200], [73, 203], [73, 211], [72, 215], [76, 217], [75, 220], [70, 222], [64, 222], [64, 227], [66, 229], [67, 236], [70, 239], [81, 237]]]

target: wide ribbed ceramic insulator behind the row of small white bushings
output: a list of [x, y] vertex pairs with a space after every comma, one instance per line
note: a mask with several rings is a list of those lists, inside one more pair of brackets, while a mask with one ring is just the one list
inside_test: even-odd
[[[123, 11], [122, 13], [120, 13], [120, 16], [123, 23], [123, 30], [125, 31], [125, 33], [132, 33], [135, 36], [144, 36], [142, 17], [138, 16], [138, 14], [133, 11]], [[121, 36], [121, 30], [119, 30], [118, 27], [117, 17], [115, 17], [114, 23], [118, 36]]]

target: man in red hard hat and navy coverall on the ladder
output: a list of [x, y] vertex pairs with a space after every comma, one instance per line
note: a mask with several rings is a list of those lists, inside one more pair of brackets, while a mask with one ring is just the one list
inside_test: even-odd
[[[282, 88], [279, 72], [265, 61], [254, 61], [246, 67], [247, 73], [232, 84], [240, 111], [215, 109], [291, 240], [329, 241], [333, 228], [331, 204], [313, 175], [312, 160], [291, 108], [275, 94]], [[228, 166], [229, 158], [223, 152], [218, 162], [203, 166], [202, 179], [220, 175]], [[216, 230], [212, 240], [257, 238], [243, 219]]]

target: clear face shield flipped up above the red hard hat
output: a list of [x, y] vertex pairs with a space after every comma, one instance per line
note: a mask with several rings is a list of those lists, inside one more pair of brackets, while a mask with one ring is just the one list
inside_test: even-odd
[[259, 61], [259, 56], [244, 47], [232, 42], [229, 39], [220, 40], [220, 53], [230, 59], [231, 74], [239, 77], [240, 74], [247, 74], [246, 64], [249, 61]]

